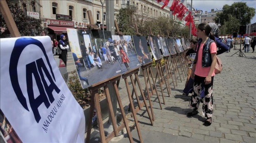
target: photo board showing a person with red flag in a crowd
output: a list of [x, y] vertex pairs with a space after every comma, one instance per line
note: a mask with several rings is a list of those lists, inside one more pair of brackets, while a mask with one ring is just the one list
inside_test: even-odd
[[[115, 57], [116, 62], [118, 62], [119, 65], [121, 66], [122, 73], [125, 73], [125, 72], [128, 72], [129, 70], [133, 70], [135, 68], [140, 67], [140, 63], [134, 49], [132, 37], [128, 35], [125, 35], [125, 36], [112, 35], [112, 39], [114, 44], [113, 47], [114, 49], [116, 49], [113, 56]], [[120, 48], [123, 49], [124, 53], [121, 53]], [[116, 53], [119, 55], [118, 57]], [[129, 59], [128, 65], [123, 64], [123, 62], [126, 61], [125, 55], [127, 55], [127, 58]], [[126, 66], [128, 66], [128, 68]]]

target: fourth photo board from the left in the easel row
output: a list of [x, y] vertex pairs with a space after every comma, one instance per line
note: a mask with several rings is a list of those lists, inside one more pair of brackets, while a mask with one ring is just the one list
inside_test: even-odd
[[162, 58], [162, 53], [160, 51], [160, 42], [158, 42], [157, 36], [148, 36], [149, 38], [149, 46], [152, 51], [152, 54], [155, 60]]

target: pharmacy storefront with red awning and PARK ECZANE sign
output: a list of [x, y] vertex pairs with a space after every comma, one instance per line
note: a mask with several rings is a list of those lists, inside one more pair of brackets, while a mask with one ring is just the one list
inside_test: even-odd
[[60, 35], [64, 34], [66, 39], [67, 36], [67, 28], [74, 29], [74, 21], [68, 20], [53, 20], [53, 19], [45, 19], [48, 27], [48, 36], [51, 38], [55, 38], [57, 41], [60, 40]]

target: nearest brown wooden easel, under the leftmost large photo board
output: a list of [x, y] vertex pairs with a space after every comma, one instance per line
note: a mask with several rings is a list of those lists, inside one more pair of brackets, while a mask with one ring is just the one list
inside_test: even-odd
[[[100, 132], [100, 138], [101, 138], [101, 143], [107, 143], [109, 142], [114, 136], [117, 136], [117, 134], [123, 129], [126, 128], [128, 138], [130, 140], [130, 143], [133, 143], [133, 138], [131, 135], [130, 128], [128, 126], [128, 121], [125, 116], [125, 112], [123, 110], [123, 104], [121, 101], [121, 98], [119, 96], [119, 92], [117, 89], [117, 81], [120, 80], [121, 74], [111, 77], [110, 79], [107, 79], [105, 81], [93, 84], [91, 87], [89, 87], [89, 90], [91, 91], [91, 97], [93, 100], [91, 100], [91, 108], [90, 108], [90, 116], [89, 116], [89, 121], [88, 121], [88, 129], [87, 129], [87, 135], [86, 135], [86, 143], [89, 143], [90, 141], [90, 136], [91, 136], [91, 124], [92, 124], [92, 117], [93, 117], [93, 107], [96, 108], [96, 114], [97, 114], [97, 122], [99, 125], [99, 132]], [[121, 114], [123, 117], [123, 123], [117, 127], [117, 121], [114, 115], [113, 107], [112, 107], [112, 102], [110, 99], [110, 94], [108, 90], [108, 84], [112, 84], [114, 87], [114, 90], [116, 92], [117, 96], [117, 102], [119, 105], [119, 108], [121, 110]], [[106, 138], [105, 138], [105, 133], [104, 133], [104, 128], [103, 128], [103, 122], [102, 122], [102, 117], [101, 117], [101, 107], [100, 107], [100, 101], [98, 97], [98, 89], [104, 87], [104, 91], [106, 94], [106, 99], [107, 99], [107, 106], [110, 112], [110, 116], [112, 118], [112, 125], [113, 125], [113, 132], [110, 133]]]

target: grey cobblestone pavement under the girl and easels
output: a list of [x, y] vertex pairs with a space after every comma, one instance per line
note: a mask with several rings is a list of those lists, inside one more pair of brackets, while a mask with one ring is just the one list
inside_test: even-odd
[[[137, 113], [139, 127], [144, 142], [213, 142], [213, 143], [255, 143], [256, 142], [256, 54], [244, 53], [240, 57], [233, 55], [238, 50], [219, 55], [223, 71], [214, 77], [213, 83], [213, 123], [209, 127], [203, 125], [202, 103], [199, 114], [191, 118], [186, 116], [191, 109], [188, 103], [191, 97], [182, 95], [185, 81], [177, 77], [178, 85], [171, 87], [171, 95], [164, 87], [165, 105], [160, 109], [156, 95], [151, 97], [154, 105], [155, 121], [151, 126], [145, 107]], [[239, 52], [238, 52], [239, 53]], [[142, 87], [144, 78], [139, 76]], [[171, 81], [171, 78], [169, 79]], [[124, 81], [121, 80], [119, 93], [123, 106], [128, 109], [128, 96]], [[160, 87], [158, 93], [161, 95]], [[161, 98], [162, 101], [162, 98]], [[149, 105], [149, 103], [148, 103]], [[139, 142], [137, 130], [132, 131], [134, 142]], [[176, 135], [174, 137], [173, 135]], [[154, 139], [155, 137], [155, 139]], [[161, 137], [161, 138], [159, 138]], [[169, 138], [168, 138], [169, 137]], [[181, 140], [172, 138], [182, 138]], [[167, 139], [167, 140], [166, 140]], [[169, 140], [168, 140], [169, 139]], [[112, 142], [129, 142], [127, 136], [112, 139]]]

